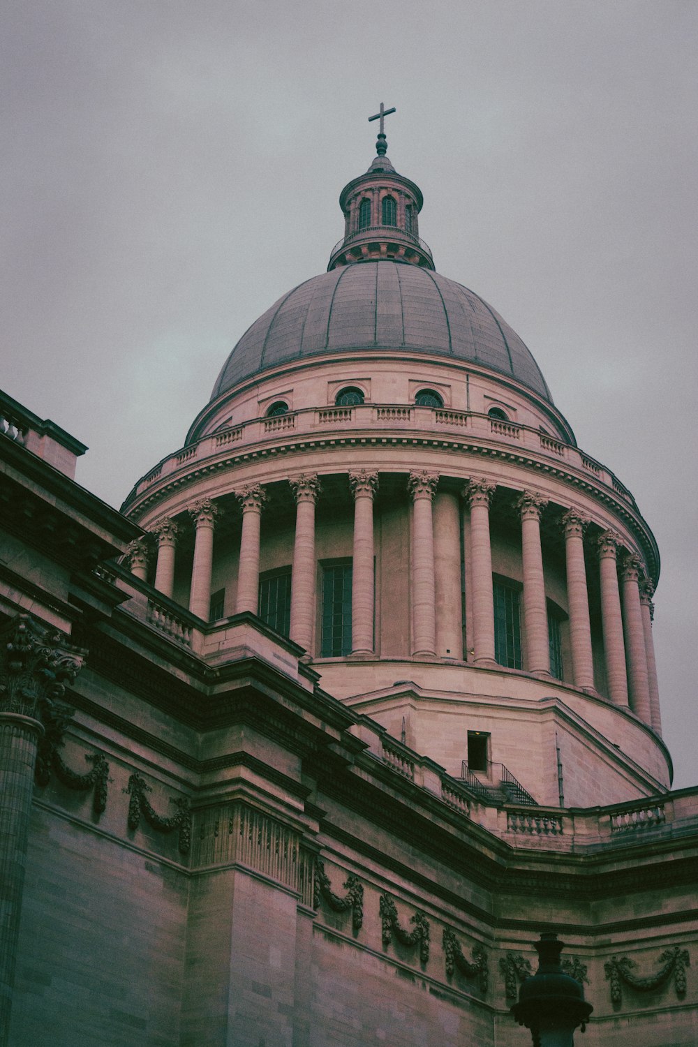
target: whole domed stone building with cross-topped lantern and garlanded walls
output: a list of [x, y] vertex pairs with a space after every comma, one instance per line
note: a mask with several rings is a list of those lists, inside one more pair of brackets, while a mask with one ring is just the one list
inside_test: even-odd
[[120, 513], [0, 400], [0, 1047], [516, 1047], [539, 932], [589, 1047], [698, 1041], [656, 542], [382, 115]]

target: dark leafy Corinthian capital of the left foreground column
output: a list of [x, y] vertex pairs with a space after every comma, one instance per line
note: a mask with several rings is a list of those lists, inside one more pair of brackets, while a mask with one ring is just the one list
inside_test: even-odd
[[42, 703], [61, 700], [86, 654], [30, 615], [13, 619], [0, 632], [0, 712], [37, 719]]

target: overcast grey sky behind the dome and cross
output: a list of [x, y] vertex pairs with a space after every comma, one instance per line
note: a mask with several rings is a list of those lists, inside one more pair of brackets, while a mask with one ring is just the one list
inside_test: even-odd
[[698, 781], [695, 0], [5, 0], [2, 386], [118, 506], [232, 346], [324, 271], [374, 156], [521, 335], [662, 555], [675, 785]]

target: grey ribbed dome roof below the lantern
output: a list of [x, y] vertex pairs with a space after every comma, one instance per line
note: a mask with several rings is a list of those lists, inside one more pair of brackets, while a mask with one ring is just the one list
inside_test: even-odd
[[387, 259], [333, 269], [279, 298], [230, 353], [211, 400], [280, 363], [362, 349], [478, 363], [553, 402], [524, 343], [482, 298], [436, 272]]

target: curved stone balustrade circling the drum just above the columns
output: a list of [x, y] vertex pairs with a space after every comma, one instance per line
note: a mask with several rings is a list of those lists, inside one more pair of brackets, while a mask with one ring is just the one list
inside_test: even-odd
[[570, 470], [579, 470], [589, 483], [608, 488], [633, 509], [636, 508], [635, 500], [627, 487], [604, 465], [582, 453], [571, 444], [556, 440], [534, 426], [502, 422], [475, 411], [423, 407], [416, 404], [310, 407], [271, 418], [255, 418], [227, 429], [220, 429], [158, 463], [138, 481], [126, 499], [125, 507], [130, 506], [156, 483], [175, 478], [180, 470], [188, 471], [204, 462], [208, 464], [208, 460], [215, 460], [217, 455], [225, 454], [230, 449], [234, 449], [238, 453], [239, 449], [250, 445], [264, 447], [265, 441], [270, 439], [288, 438], [301, 441], [306, 437], [315, 439], [324, 435], [332, 438], [337, 432], [350, 428], [366, 433], [380, 429], [383, 430], [380, 439], [384, 439], [386, 427], [395, 427], [396, 433], [402, 432], [405, 428], [420, 433], [432, 431], [438, 435], [440, 440], [452, 432], [454, 440], [467, 437], [469, 442], [482, 441], [486, 446], [490, 441], [495, 441], [497, 444], [502, 442], [512, 444], [520, 451], [525, 449], [537, 458], [542, 456], [543, 460], [555, 462], [553, 468], [558, 469], [564, 463]]

